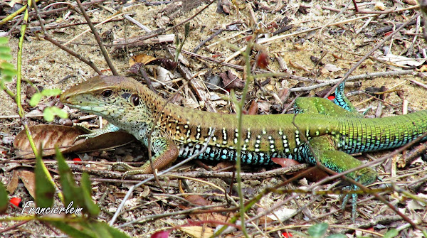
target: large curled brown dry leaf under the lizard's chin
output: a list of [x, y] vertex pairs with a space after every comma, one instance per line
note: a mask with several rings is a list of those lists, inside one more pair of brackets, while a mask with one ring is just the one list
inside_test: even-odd
[[[122, 131], [102, 134], [95, 138], [78, 140], [73, 143], [77, 136], [85, 134], [78, 128], [59, 125], [37, 125], [30, 127], [36, 146], [41, 145], [43, 156], [55, 154], [55, 146], [63, 153], [82, 153], [88, 151], [97, 151], [107, 148], [122, 146], [135, 140], [130, 134]], [[16, 155], [21, 158], [35, 158], [31, 146], [26, 137], [25, 131], [19, 132], [15, 137], [14, 148]]]

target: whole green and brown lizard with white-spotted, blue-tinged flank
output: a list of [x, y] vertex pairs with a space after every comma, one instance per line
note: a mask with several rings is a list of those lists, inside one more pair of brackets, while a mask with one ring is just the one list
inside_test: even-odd
[[[336, 101], [347, 107], [343, 87], [337, 88]], [[291, 158], [315, 164], [318, 158], [324, 166], [340, 173], [362, 165], [348, 153], [395, 148], [427, 131], [427, 111], [365, 119], [330, 100], [303, 97], [295, 102], [300, 114], [244, 115], [243, 131], [239, 132], [236, 114], [202, 112], [167, 103], [136, 80], [116, 76], [93, 77], [65, 91], [60, 101], [110, 122], [110, 126], [93, 135], [122, 129], [148, 146], [147, 134], [155, 124], [151, 144], [154, 168], [164, 168], [178, 156], [197, 153], [211, 134], [206, 151], [198, 158], [233, 161], [238, 133], [242, 133], [243, 163], [268, 165], [273, 163], [271, 158]], [[310, 142], [314, 155], [302, 135]], [[113, 169], [127, 171], [126, 174], [152, 173], [149, 162], [140, 168], [117, 163]], [[369, 185], [376, 175], [372, 168], [362, 168], [347, 176]], [[356, 199], [354, 195], [354, 206]]]

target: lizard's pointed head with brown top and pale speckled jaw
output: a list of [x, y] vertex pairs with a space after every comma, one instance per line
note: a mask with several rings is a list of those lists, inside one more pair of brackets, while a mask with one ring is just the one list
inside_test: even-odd
[[129, 77], [100, 75], [70, 87], [60, 95], [60, 102], [117, 121], [144, 103], [139, 98], [142, 87]]

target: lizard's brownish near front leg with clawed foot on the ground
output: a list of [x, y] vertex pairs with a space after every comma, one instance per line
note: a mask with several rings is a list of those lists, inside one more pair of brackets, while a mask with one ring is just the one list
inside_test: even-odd
[[[154, 156], [152, 157], [152, 163], [154, 169], [162, 169], [167, 167], [169, 164], [174, 163], [179, 155], [179, 148], [176, 146], [174, 141], [163, 137], [154, 138], [151, 144]], [[153, 173], [152, 167], [149, 161], [145, 162], [139, 168], [132, 167], [127, 163], [117, 162], [112, 165], [113, 171], [125, 172], [124, 177], [127, 175]]]

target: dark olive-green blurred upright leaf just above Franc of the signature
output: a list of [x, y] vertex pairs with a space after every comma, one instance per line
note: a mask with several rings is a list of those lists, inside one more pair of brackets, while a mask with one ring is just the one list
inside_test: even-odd
[[[41, 150], [39, 150], [41, 151]], [[51, 207], [55, 188], [46, 173], [48, 169], [41, 160], [41, 156], [36, 157], [36, 205], [37, 207]]]

